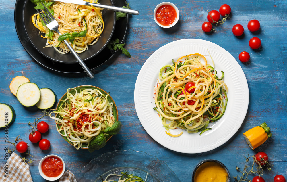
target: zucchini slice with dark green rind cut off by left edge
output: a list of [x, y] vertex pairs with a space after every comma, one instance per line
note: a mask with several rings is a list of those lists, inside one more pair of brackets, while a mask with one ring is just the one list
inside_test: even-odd
[[15, 110], [9, 104], [0, 103], [0, 128], [9, 126], [15, 121]]

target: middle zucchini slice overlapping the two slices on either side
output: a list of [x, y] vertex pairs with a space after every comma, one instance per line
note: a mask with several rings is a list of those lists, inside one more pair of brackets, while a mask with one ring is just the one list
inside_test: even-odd
[[27, 82], [19, 86], [16, 97], [23, 106], [30, 107], [38, 103], [41, 92], [35, 83]]

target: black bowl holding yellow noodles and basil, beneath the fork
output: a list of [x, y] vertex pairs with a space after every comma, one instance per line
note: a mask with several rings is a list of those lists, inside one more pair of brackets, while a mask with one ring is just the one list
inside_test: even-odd
[[[36, 5], [30, 0], [24, 1], [23, 23], [24, 30], [28, 36], [26, 41], [30, 41], [39, 53], [50, 60], [60, 63], [77, 63], [77, 60], [75, 60], [73, 55], [70, 52], [67, 52], [68, 50], [64, 50], [64, 43], [62, 42], [59, 44], [61, 41], [55, 41], [59, 38], [59, 35], [56, 32], [51, 33], [49, 30], [45, 30], [46, 27], [40, 22], [40, 19], [38, 19], [38, 16], [36, 15]], [[102, 5], [113, 4], [111, 0], [100, 0], [99, 3]], [[66, 4], [66, 6], [68, 5], [68, 7], [64, 8], [64, 4]], [[54, 11], [53, 16], [59, 24], [60, 32], [62, 34], [67, 33], [75, 35], [70, 35], [71, 39], [69, 40], [68, 37], [67, 41], [71, 42], [72, 47], [75, 47], [79, 52], [78, 55], [83, 61], [89, 60], [100, 53], [112, 38], [116, 22], [115, 12], [113, 11], [101, 11], [101, 9], [95, 7], [78, 6], [59, 2], [51, 4], [49, 9]], [[70, 12], [70, 9], [71, 11], [73, 10], [73, 14], [70, 14], [72, 13]], [[97, 12], [99, 14], [97, 14]], [[36, 27], [34, 25], [36, 25]], [[42, 30], [45, 30], [44, 33]], [[83, 31], [85, 30], [86, 36], [82, 37], [84, 35]], [[52, 37], [50, 38], [51, 35]], [[75, 38], [74, 41], [72, 40], [73, 38]], [[53, 47], [53, 45], [59, 46]], [[101, 62], [101, 60], [97, 60], [96, 62]]]

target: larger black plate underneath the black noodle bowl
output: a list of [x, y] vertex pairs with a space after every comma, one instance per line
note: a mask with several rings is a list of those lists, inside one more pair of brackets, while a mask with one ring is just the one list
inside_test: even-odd
[[[126, 5], [125, 0], [117, 0], [114, 1], [114, 5], [118, 7], [123, 7]], [[23, 16], [23, 7], [24, 7], [24, 0], [17, 0], [15, 4], [15, 12], [14, 12], [14, 21], [15, 21], [15, 28], [18, 35], [18, 38], [27, 51], [27, 53], [40, 65], [57, 72], [62, 73], [81, 73], [84, 72], [78, 63], [73, 64], [64, 64], [52, 61], [42, 54], [40, 54], [30, 43], [29, 38], [24, 30], [24, 23], [22, 20]], [[120, 18], [116, 21], [115, 30], [111, 40], [119, 39], [120, 43], [124, 42], [125, 35], [127, 32], [128, 27], [128, 18], [127, 15], [125, 18]], [[20, 18], [19, 18], [20, 17]], [[94, 58], [85, 61], [85, 64], [88, 66], [90, 70], [97, 68], [104, 62], [108, 61], [112, 56], [115, 54], [115, 51], [111, 51], [107, 47], [105, 47], [98, 55]]]

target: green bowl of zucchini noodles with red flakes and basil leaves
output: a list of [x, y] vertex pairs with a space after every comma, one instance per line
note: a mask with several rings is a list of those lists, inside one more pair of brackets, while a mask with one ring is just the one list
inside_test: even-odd
[[[55, 114], [55, 116], [52, 116]], [[108, 93], [90, 85], [67, 89], [50, 112], [58, 133], [76, 149], [93, 152], [119, 132], [117, 107]]]

